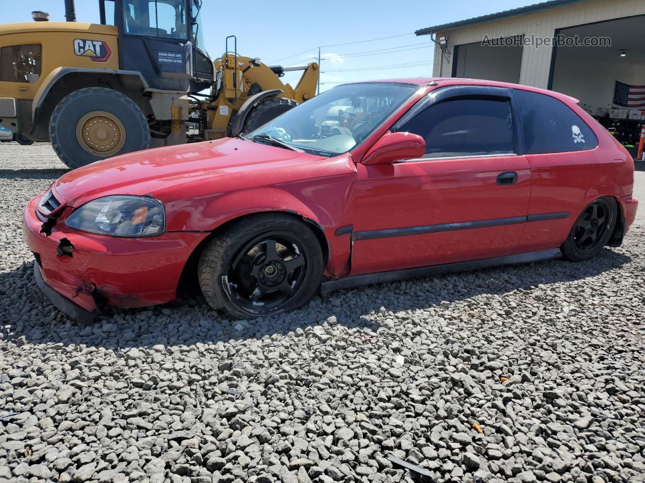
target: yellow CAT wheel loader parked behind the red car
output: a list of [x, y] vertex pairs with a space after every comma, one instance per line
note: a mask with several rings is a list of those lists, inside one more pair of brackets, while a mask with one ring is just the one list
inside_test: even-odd
[[[0, 25], [0, 126], [50, 141], [68, 167], [148, 147], [250, 132], [315, 95], [318, 65], [237, 55], [212, 61], [201, 0], [98, 0], [101, 24], [32, 12]], [[302, 70], [295, 88], [286, 71]]]

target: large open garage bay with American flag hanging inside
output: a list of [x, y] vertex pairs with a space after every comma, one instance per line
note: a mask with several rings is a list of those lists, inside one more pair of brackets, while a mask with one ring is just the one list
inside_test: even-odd
[[[645, 122], [645, 15], [564, 28], [566, 39], [610, 39], [609, 46], [553, 48], [549, 88], [580, 105], [636, 155]], [[605, 42], [606, 43], [606, 42]]]

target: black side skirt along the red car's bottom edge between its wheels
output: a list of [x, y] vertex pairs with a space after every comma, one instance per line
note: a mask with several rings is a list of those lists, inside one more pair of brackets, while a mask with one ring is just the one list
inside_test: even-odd
[[488, 267], [502, 267], [504, 265], [517, 265], [518, 263], [532, 263], [534, 261], [561, 258], [560, 249], [540, 250], [536, 252], [519, 253], [517, 255], [498, 256], [495, 258], [482, 258], [481, 260], [459, 261], [457, 263], [444, 263], [428, 267], [415, 267], [413, 269], [392, 270], [390, 272], [376, 272], [363, 275], [353, 275], [338, 280], [328, 280], [321, 283], [320, 294], [328, 295], [337, 290], [353, 289], [362, 285], [385, 283], [397, 280], [437, 276], [467, 270], [480, 270]]

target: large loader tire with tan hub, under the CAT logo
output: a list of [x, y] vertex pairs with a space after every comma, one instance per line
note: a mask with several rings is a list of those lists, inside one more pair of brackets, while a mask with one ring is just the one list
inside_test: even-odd
[[150, 128], [139, 106], [119, 91], [88, 87], [59, 101], [49, 138], [63, 163], [74, 169], [110, 156], [150, 147]]

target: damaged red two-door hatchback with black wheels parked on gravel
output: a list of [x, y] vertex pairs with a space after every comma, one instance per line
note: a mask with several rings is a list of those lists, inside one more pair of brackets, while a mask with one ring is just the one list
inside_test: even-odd
[[240, 138], [110, 158], [25, 208], [56, 307], [171, 301], [230, 317], [317, 290], [564, 257], [622, 242], [628, 152], [559, 93], [472, 79], [345, 84]]

